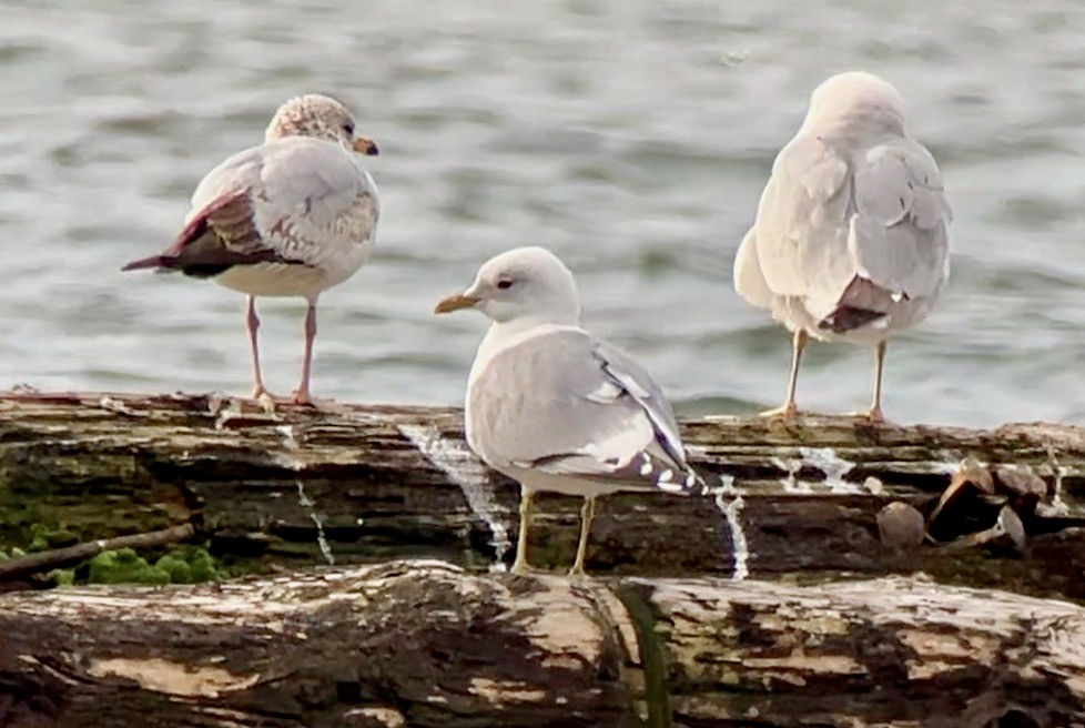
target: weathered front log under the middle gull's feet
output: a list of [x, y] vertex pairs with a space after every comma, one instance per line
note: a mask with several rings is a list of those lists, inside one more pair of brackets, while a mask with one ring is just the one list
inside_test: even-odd
[[1068, 728], [1085, 608], [439, 562], [0, 596], [6, 728]]

